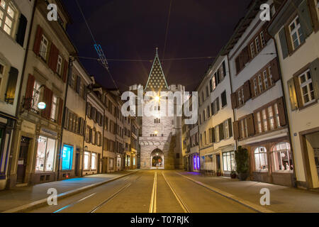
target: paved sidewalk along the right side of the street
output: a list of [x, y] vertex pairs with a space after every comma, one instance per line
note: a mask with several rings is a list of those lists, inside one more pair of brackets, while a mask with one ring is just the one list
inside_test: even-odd
[[228, 177], [208, 177], [197, 172], [179, 173], [259, 206], [262, 197], [260, 189], [267, 188], [270, 191], [270, 205], [263, 207], [274, 212], [319, 212], [319, 192], [263, 182], [242, 182]]

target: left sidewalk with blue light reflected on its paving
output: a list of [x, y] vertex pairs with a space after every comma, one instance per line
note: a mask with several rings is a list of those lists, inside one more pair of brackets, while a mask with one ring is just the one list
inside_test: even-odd
[[135, 172], [135, 170], [114, 172], [100, 175], [90, 175], [79, 178], [65, 179], [57, 182], [49, 182], [44, 184], [36, 184], [28, 187], [16, 187], [9, 190], [0, 191], [0, 212], [23, 206], [26, 204], [47, 199], [47, 189], [57, 189], [57, 194], [72, 192], [79, 193], [82, 187], [90, 187], [94, 184], [103, 184], [111, 179], [124, 177]]

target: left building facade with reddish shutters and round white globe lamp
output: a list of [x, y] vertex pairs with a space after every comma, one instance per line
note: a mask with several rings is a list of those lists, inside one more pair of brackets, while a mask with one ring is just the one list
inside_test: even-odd
[[21, 86], [13, 140], [10, 187], [57, 179], [69, 56], [76, 50], [66, 33], [70, 18], [61, 1], [58, 21], [47, 21], [46, 1], [37, 1], [30, 50]]

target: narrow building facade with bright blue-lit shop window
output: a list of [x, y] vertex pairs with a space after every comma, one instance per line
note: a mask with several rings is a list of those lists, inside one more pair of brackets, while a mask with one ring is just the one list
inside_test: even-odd
[[72, 61], [72, 70], [69, 72], [62, 143], [59, 148], [59, 179], [81, 176], [86, 126], [86, 87], [92, 83], [89, 74], [78, 60]]

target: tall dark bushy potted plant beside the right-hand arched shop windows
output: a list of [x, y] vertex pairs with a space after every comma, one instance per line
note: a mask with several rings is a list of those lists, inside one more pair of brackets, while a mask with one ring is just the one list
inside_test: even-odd
[[235, 150], [235, 162], [237, 167], [238, 178], [240, 180], [246, 180], [249, 175], [249, 157], [248, 150], [238, 147], [238, 150]]

